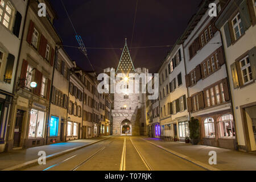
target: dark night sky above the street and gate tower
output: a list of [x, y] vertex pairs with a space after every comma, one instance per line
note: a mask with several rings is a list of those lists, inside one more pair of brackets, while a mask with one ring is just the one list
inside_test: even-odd
[[[75, 31], [60, 0], [51, 0], [58, 15], [55, 27], [65, 46], [79, 46]], [[78, 35], [88, 47], [88, 57], [97, 73], [117, 68], [127, 38], [131, 47], [137, 0], [63, 0]], [[132, 47], [172, 46], [183, 34], [201, 0], [139, 0]], [[90, 48], [121, 49], [90, 49]], [[91, 71], [86, 57], [77, 48], [65, 47], [72, 60]], [[131, 49], [135, 68], [155, 73], [171, 47]]]

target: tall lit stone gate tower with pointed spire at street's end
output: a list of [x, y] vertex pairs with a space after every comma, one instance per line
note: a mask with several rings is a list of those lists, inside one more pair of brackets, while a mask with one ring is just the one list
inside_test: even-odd
[[[138, 73], [140, 75], [141, 73], [144, 73], [145, 80], [147, 80], [148, 76], [148, 69], [134, 69], [126, 40], [117, 69], [104, 69], [104, 72], [108, 75], [110, 75], [110, 71], [115, 71], [115, 75], [117, 75], [117, 73], [126, 75], [126, 77], [123, 78], [127, 80], [126, 88], [131, 86], [128, 81], [130, 79], [128, 77], [129, 74], [133, 75]], [[114, 98], [114, 107], [112, 109], [113, 135], [146, 135], [146, 93], [141, 92], [142, 80], [143, 78], [139, 81], [139, 93], [117, 93], [115, 90], [114, 96], [112, 97]], [[115, 84], [117, 84], [117, 82], [115, 82]], [[135, 88], [135, 82], [133, 88]]]

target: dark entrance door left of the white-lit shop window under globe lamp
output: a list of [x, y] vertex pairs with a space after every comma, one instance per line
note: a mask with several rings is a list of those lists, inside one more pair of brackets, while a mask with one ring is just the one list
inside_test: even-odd
[[24, 115], [24, 111], [18, 109], [16, 113], [16, 121], [15, 121], [15, 128], [14, 128], [14, 138], [13, 138], [14, 147], [19, 147], [20, 135], [22, 133], [23, 115]]

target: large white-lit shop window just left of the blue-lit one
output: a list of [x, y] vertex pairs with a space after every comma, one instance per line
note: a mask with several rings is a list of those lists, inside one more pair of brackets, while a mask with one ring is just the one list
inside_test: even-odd
[[30, 113], [30, 127], [28, 137], [42, 138], [44, 132], [44, 112], [35, 109]]

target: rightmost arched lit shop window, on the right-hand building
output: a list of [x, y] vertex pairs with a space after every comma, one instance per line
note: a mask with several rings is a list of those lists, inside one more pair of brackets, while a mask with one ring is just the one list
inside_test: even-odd
[[233, 115], [222, 115], [218, 121], [220, 126], [220, 137], [235, 137]]

